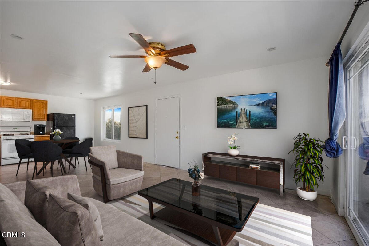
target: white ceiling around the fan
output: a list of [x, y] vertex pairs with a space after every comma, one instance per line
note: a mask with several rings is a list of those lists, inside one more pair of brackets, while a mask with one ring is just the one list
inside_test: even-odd
[[[2, 89], [96, 99], [330, 55], [354, 3], [2, 0], [0, 80], [12, 83]], [[167, 49], [194, 44], [173, 57], [190, 68], [163, 65], [154, 84], [144, 59], [109, 58], [145, 55], [130, 32]]]

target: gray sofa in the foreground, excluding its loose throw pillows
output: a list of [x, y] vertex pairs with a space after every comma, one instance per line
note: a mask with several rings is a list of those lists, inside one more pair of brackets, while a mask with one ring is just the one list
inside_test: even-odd
[[[67, 198], [67, 193], [80, 195], [77, 176], [65, 175], [59, 177], [34, 180], [52, 187], [62, 197]], [[18, 232], [18, 237], [4, 238], [8, 246], [52, 246], [60, 245], [53, 236], [40, 224], [38, 224], [31, 212], [24, 205], [26, 181], [0, 184], [0, 231]], [[92, 198], [92, 201], [100, 213], [103, 226], [104, 240], [101, 245], [108, 246], [180, 246], [183, 243], [166, 235], [158, 229], [125, 214], [113, 207]], [[24, 232], [24, 237], [21, 233]], [[13, 234], [15, 236], [15, 234]], [[1, 242], [0, 242], [1, 243]]]

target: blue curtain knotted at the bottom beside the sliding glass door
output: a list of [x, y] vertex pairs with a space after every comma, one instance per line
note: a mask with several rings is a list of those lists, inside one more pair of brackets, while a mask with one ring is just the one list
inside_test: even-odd
[[329, 138], [325, 140], [325, 155], [330, 158], [342, 154], [342, 148], [337, 143], [338, 131], [346, 118], [344, 66], [342, 64], [341, 44], [338, 43], [329, 59], [329, 96], [328, 118]]

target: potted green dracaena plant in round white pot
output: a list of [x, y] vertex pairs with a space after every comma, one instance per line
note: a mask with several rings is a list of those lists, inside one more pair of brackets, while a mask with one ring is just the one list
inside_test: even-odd
[[289, 152], [296, 155], [291, 166], [296, 168], [293, 179], [296, 185], [303, 182], [303, 187], [296, 188], [297, 195], [304, 200], [314, 201], [318, 196], [314, 187], [319, 187], [318, 180], [324, 182], [322, 163], [324, 142], [318, 138], [310, 138], [307, 133], [300, 133], [293, 139], [294, 147]]

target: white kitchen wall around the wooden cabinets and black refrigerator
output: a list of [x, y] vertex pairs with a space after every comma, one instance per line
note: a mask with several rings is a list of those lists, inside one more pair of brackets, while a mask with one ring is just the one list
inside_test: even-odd
[[[94, 137], [94, 100], [86, 100], [71, 97], [59, 97], [45, 94], [29, 93], [23, 91], [4, 90], [1, 86], [0, 95], [10, 97], [24, 97], [32, 99], [41, 99], [48, 101], [48, 114], [76, 114], [76, 137], [81, 140], [87, 137]], [[45, 124], [45, 121], [1, 121], [1, 125], [25, 126], [29, 125], [33, 131], [34, 124]]]

